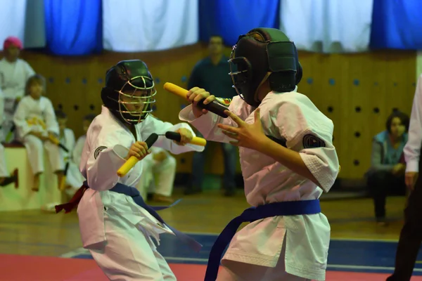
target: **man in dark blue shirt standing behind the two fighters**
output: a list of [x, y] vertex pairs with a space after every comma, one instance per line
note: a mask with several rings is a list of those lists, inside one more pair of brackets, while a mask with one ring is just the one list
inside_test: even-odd
[[[200, 60], [193, 67], [191, 77], [188, 81], [188, 89], [199, 87], [207, 89], [210, 93], [228, 99], [237, 96], [234, 90], [233, 81], [229, 75], [229, 58], [223, 54], [223, 39], [219, 35], [210, 37], [208, 44], [210, 55]], [[227, 105], [229, 106], [229, 105]], [[201, 136], [198, 133], [198, 136]], [[236, 161], [238, 161], [236, 147], [229, 143], [222, 143], [224, 156], [224, 178], [223, 187], [226, 196], [232, 196], [236, 191]], [[205, 166], [205, 150], [203, 152], [194, 152], [192, 159], [192, 178], [191, 183], [186, 187], [185, 194], [193, 194], [202, 190]]]

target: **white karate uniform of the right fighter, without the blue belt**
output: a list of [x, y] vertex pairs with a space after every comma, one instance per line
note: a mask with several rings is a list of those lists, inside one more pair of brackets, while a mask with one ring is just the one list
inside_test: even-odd
[[[306, 96], [270, 92], [259, 105], [264, 133], [285, 138], [321, 187], [295, 174], [256, 150], [239, 148], [246, 200], [252, 207], [274, 202], [316, 200], [328, 192], [338, 174], [338, 157], [332, 144], [333, 122]], [[229, 105], [252, 124], [255, 108], [235, 97]], [[190, 122], [209, 141], [228, 143], [217, 124], [237, 126], [230, 118], [212, 112], [196, 119], [189, 105], [181, 120]], [[319, 143], [319, 148], [309, 148]], [[274, 216], [249, 223], [231, 240], [217, 280], [325, 280], [330, 225], [324, 214]]]

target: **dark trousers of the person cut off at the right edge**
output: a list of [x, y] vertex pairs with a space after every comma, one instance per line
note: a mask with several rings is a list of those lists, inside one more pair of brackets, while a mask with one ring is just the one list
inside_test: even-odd
[[[422, 157], [421, 157], [422, 159]], [[421, 162], [419, 162], [421, 169]], [[388, 281], [409, 281], [422, 242], [422, 177], [416, 181], [404, 209], [404, 226], [397, 245], [395, 271]]]

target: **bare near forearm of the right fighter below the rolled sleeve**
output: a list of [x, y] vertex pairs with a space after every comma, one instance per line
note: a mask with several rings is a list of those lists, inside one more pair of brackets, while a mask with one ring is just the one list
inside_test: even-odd
[[286, 168], [290, 169], [296, 174], [308, 178], [310, 181], [320, 186], [312, 172], [309, 171], [305, 162], [303, 162], [299, 152], [284, 148], [282, 145], [271, 141], [269, 138], [263, 141], [262, 145], [260, 145], [259, 151], [264, 155], [272, 157], [274, 160], [283, 166], [286, 166]]

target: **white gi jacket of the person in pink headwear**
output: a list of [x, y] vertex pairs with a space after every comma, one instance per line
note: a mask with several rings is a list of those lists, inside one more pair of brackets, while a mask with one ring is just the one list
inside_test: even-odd
[[34, 75], [32, 67], [25, 60], [18, 58], [9, 63], [6, 58], [0, 60], [0, 86], [5, 98], [22, 98], [25, 96], [25, 84]]

